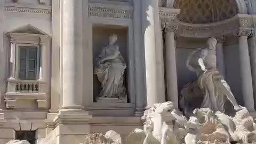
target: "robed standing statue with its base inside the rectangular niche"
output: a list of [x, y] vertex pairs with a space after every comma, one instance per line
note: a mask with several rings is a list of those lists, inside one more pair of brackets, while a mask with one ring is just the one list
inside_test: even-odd
[[109, 36], [109, 43], [103, 47], [94, 64], [94, 74], [101, 83], [97, 102], [127, 102], [124, 82], [126, 63], [116, 44], [117, 35]]

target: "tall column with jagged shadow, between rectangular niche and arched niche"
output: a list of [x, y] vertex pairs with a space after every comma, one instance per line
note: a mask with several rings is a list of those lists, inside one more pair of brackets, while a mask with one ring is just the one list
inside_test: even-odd
[[165, 101], [164, 63], [158, 1], [142, 0], [142, 34], [145, 47], [147, 107]]

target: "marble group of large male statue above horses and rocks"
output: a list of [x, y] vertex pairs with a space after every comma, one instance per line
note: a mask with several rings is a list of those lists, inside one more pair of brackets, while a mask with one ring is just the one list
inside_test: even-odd
[[208, 47], [197, 49], [188, 57], [187, 67], [196, 72], [198, 79], [181, 91], [183, 113], [174, 109], [171, 101], [155, 104], [147, 110], [145, 130], [135, 129], [127, 143], [256, 142], [254, 119], [245, 107], [237, 104], [217, 70], [217, 40], [209, 38], [207, 44]]

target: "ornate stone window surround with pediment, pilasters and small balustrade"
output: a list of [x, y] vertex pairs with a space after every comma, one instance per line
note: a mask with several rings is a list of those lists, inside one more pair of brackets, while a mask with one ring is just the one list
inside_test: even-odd
[[[31, 102], [34, 99], [38, 109], [47, 109], [49, 102], [47, 73], [48, 58], [50, 57], [50, 36], [34, 26], [26, 25], [6, 33], [10, 46], [9, 76], [7, 78], [6, 93], [4, 94], [7, 109], [19, 109], [19, 99]], [[36, 79], [20, 79], [20, 49], [36, 47], [37, 64]], [[27, 67], [26, 67], [27, 68]], [[30, 108], [30, 106], [29, 106]], [[31, 107], [34, 109], [34, 107]]]

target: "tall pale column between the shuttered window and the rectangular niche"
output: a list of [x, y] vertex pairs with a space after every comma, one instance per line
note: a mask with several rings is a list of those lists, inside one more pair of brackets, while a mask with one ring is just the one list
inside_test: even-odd
[[82, 0], [63, 0], [62, 109], [82, 109]]

